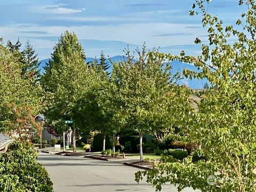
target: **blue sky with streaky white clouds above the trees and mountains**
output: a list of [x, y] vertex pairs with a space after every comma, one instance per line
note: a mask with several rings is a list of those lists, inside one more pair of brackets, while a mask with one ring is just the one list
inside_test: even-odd
[[[159, 51], [198, 55], [196, 37], [206, 42], [202, 15], [189, 16], [193, 0], [1, 0], [0, 36], [24, 45], [27, 40], [39, 60], [50, 58], [54, 44], [65, 31], [74, 31], [86, 57], [101, 51], [113, 57], [124, 48], [159, 47]], [[208, 12], [225, 25], [234, 25], [244, 11], [238, 0], [212, 0]]]

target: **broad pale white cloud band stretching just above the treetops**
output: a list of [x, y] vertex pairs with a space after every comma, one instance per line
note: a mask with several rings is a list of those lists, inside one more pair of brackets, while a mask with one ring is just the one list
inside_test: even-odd
[[[60, 36], [65, 30], [74, 31], [79, 39], [97, 39], [101, 41], [122, 41], [129, 44], [142, 45], [146, 42], [148, 47], [170, 46], [170, 45], [194, 45], [195, 37], [205, 35], [206, 31], [202, 28], [189, 28], [188, 24], [180, 23], [129, 23], [123, 25], [105, 25], [105, 26], [9, 26], [0, 27], [0, 34], [5, 40], [12, 39], [16, 41], [19, 37], [19, 31], [45, 31], [43, 34], [22, 34], [23, 39], [29, 39], [31, 36]], [[192, 26], [192, 25], [191, 25]], [[157, 36], [159, 34], [179, 34], [189, 33], [188, 36]], [[52, 49], [56, 42], [44, 39], [31, 39], [34, 48]], [[99, 47], [100, 48], [100, 47]], [[171, 49], [170, 49], [171, 50]], [[186, 48], [185, 48], [186, 50]], [[119, 52], [118, 52], [119, 51]], [[167, 51], [167, 50], [166, 50]], [[180, 51], [180, 50], [179, 50]], [[97, 52], [97, 50], [95, 50]], [[122, 54], [122, 50], [117, 50]], [[109, 54], [109, 53], [107, 53]], [[40, 53], [39, 53], [40, 56]], [[50, 55], [49, 55], [50, 56]]]

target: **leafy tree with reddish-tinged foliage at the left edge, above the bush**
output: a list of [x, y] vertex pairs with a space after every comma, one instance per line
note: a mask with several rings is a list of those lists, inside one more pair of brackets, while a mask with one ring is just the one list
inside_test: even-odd
[[34, 117], [41, 106], [41, 86], [34, 76], [24, 79], [19, 50], [10, 51], [0, 45], [0, 132], [28, 136], [29, 130], [39, 129]]

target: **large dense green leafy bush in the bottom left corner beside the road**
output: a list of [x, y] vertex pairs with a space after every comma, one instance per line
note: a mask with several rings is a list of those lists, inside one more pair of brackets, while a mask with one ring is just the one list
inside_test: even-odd
[[36, 159], [33, 146], [14, 141], [0, 155], [0, 191], [53, 191], [49, 174]]

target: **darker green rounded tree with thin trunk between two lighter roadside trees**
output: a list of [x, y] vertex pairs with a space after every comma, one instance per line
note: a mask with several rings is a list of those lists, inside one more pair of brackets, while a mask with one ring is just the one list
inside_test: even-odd
[[77, 117], [83, 119], [81, 123], [88, 130], [97, 130], [103, 133], [102, 149], [105, 150], [106, 134], [113, 135], [117, 130], [114, 115], [118, 101], [116, 86], [109, 81], [105, 71], [95, 70], [95, 83], [87, 90], [84, 97], [79, 100]]

